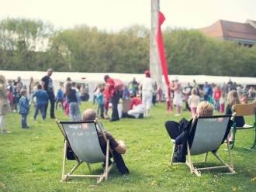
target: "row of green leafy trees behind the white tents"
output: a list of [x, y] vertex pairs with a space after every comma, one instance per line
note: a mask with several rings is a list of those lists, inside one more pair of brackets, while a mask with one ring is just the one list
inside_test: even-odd
[[[256, 46], [210, 38], [191, 29], [164, 29], [168, 74], [256, 77]], [[143, 73], [149, 68], [150, 29], [117, 33], [86, 25], [55, 29], [33, 19], [0, 21], [1, 70]]]

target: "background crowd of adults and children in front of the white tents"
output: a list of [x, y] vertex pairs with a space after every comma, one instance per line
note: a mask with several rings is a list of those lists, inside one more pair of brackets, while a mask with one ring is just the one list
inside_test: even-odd
[[[2, 81], [2, 89], [6, 88], [5, 94], [8, 96], [10, 112], [18, 112], [22, 115], [23, 129], [29, 128], [26, 123], [29, 108], [31, 106], [36, 108], [32, 120], [36, 120], [39, 113], [45, 120], [49, 103], [50, 118], [55, 118], [54, 111], [59, 106], [70, 117], [71, 121], [81, 120], [79, 105], [81, 105], [81, 101], [88, 101], [88, 84], [81, 84], [78, 89], [78, 84], [71, 81], [71, 77], [67, 77], [67, 80], [61, 82], [57, 87], [57, 94], [55, 95], [53, 80], [51, 79], [52, 74], [53, 70], [48, 69], [47, 74], [41, 78], [40, 82], [35, 82], [31, 77], [27, 87], [22, 84], [21, 77], [17, 77], [16, 81]], [[123, 84], [122, 81], [105, 75], [102, 78], [102, 83], [97, 84], [93, 93], [93, 104], [99, 105], [97, 111], [99, 117], [102, 119], [109, 118], [111, 122], [118, 121], [121, 117], [144, 118], [150, 115], [151, 105], [156, 105], [157, 101], [166, 101], [168, 113], [171, 113], [175, 107], [175, 116], [181, 115], [182, 111], [189, 110], [192, 112], [192, 118], [194, 118], [200, 99], [213, 104], [214, 111], [225, 113], [225, 102], [230, 91], [237, 91], [240, 103], [243, 104], [247, 103], [247, 98], [255, 98], [256, 95], [254, 87], [241, 87], [231, 80], [223, 83], [222, 86], [208, 84], [208, 82], [200, 86], [194, 80], [192, 85], [188, 83], [185, 87], [182, 87], [182, 84], [175, 80], [164, 92], [152, 80], [149, 70], [144, 71], [144, 74], [145, 77], [140, 82], [133, 78], [128, 84]], [[2, 79], [4, 79], [3, 76]], [[119, 108], [124, 99], [130, 100], [130, 108], [126, 113], [120, 112]], [[185, 108], [182, 110], [184, 104]], [[5, 110], [5, 112], [9, 113], [9, 110]], [[4, 125], [2, 127], [5, 130]]]

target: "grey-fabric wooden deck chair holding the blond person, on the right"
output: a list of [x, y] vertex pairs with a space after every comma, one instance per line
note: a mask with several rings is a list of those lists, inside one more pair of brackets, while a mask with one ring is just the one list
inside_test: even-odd
[[[228, 124], [231, 115], [217, 115], [217, 116], [201, 116], [193, 119], [188, 140], [186, 142], [187, 153], [189, 160], [186, 160], [186, 165], [190, 168], [190, 173], [195, 173], [198, 177], [201, 176], [200, 170], [211, 170], [227, 168], [230, 173], [235, 173], [234, 163], [231, 155], [230, 145], [227, 142], [227, 149], [229, 153], [230, 164], [227, 164], [223, 159], [220, 158], [216, 153], [230, 131]], [[171, 139], [175, 144], [175, 140]], [[192, 162], [192, 156], [206, 153], [203, 162], [206, 162], [208, 153], [213, 153], [216, 159], [219, 159], [223, 164], [222, 166], [202, 167], [196, 168]], [[175, 145], [171, 155], [171, 165], [174, 160]], [[195, 162], [196, 163], [196, 162]], [[199, 163], [199, 162], [197, 162]]]

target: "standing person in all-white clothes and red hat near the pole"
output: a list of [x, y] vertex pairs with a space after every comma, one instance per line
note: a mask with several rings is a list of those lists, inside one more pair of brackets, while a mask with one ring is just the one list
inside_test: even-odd
[[146, 77], [140, 81], [139, 89], [142, 91], [142, 104], [144, 108], [146, 108], [145, 116], [149, 116], [152, 98], [153, 98], [153, 90], [154, 90], [154, 81], [150, 78], [150, 71], [144, 71]]

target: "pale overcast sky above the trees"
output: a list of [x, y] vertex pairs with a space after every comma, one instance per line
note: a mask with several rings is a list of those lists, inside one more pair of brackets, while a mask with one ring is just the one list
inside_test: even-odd
[[[256, 0], [159, 0], [162, 28], [199, 29], [222, 19], [256, 20]], [[0, 0], [0, 20], [40, 19], [67, 29], [96, 26], [116, 32], [133, 25], [150, 29], [151, 0]]]

